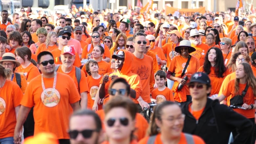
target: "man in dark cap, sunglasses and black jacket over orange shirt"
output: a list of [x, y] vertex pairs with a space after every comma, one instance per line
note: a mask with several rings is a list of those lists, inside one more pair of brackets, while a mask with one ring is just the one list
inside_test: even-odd
[[252, 131], [252, 122], [218, 100], [208, 98], [211, 82], [206, 73], [196, 72], [187, 84], [193, 99], [182, 107], [185, 114], [183, 132], [203, 138], [206, 144], [227, 144], [230, 133], [237, 130], [235, 143], [244, 143]]

